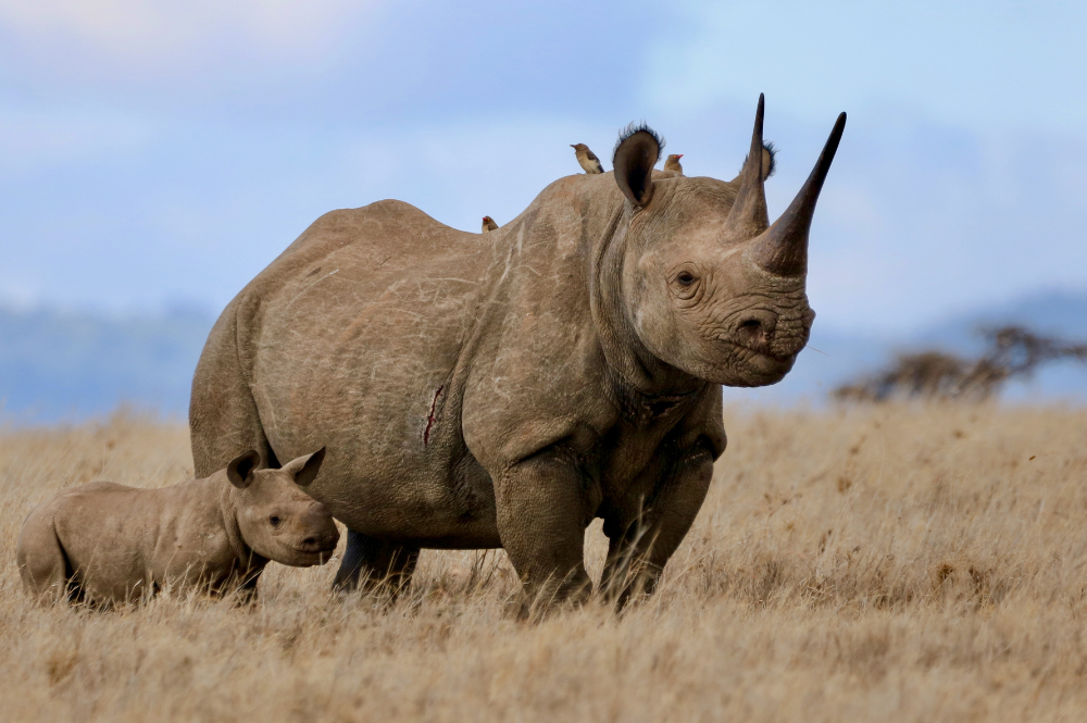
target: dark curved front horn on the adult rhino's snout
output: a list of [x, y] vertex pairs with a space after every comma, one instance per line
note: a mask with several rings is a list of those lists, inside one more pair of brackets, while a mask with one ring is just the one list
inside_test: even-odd
[[819, 161], [815, 162], [815, 167], [804, 182], [803, 188], [792, 199], [792, 203], [782, 217], [755, 240], [751, 258], [772, 274], [799, 276], [808, 271], [808, 232], [811, 230], [812, 216], [815, 214], [815, 202], [819, 200], [823, 182], [826, 180], [834, 153], [838, 150], [838, 141], [841, 140], [841, 132], [845, 129], [846, 114], [842, 113], [834, 124], [830, 137], [827, 138], [826, 146], [823, 147], [823, 152], [820, 153]]

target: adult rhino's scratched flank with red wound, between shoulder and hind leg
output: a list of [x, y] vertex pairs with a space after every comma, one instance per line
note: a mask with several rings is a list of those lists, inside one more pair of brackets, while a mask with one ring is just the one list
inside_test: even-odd
[[399, 201], [335, 211], [236, 300], [272, 449], [291, 459], [327, 446], [311, 491], [353, 529], [439, 544], [466, 524], [463, 544], [491, 537], [489, 477], [460, 435], [460, 362], [504, 259], [500, 236]]

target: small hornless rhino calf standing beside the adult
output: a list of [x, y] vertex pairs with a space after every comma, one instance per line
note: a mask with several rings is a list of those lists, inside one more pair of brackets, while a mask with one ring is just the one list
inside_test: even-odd
[[324, 564], [339, 532], [302, 491], [325, 450], [279, 470], [249, 451], [225, 470], [162, 489], [93, 482], [60, 493], [23, 523], [15, 557], [26, 589], [50, 600], [129, 602], [163, 585], [252, 599], [268, 560]]

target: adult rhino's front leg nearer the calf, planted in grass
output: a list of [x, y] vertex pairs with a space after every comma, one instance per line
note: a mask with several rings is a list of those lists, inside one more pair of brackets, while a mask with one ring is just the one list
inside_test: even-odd
[[536, 616], [591, 593], [585, 528], [600, 503], [596, 485], [561, 450], [546, 450], [497, 476], [498, 534], [524, 585], [520, 615]]

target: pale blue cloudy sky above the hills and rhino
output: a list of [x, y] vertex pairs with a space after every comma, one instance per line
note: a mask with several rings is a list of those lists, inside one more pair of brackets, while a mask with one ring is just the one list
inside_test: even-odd
[[[1087, 288], [1087, 5], [0, 0], [0, 302], [218, 310], [321, 213], [475, 230], [647, 120], [785, 208], [839, 111], [820, 323]], [[607, 164], [610, 165], [610, 164]]]

